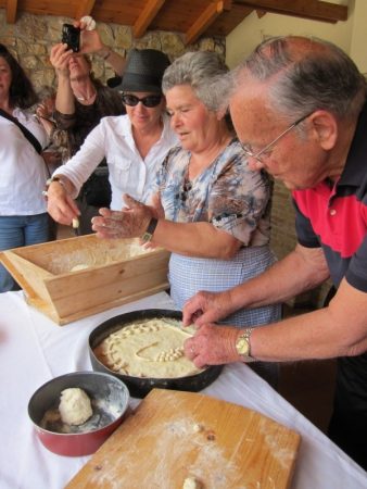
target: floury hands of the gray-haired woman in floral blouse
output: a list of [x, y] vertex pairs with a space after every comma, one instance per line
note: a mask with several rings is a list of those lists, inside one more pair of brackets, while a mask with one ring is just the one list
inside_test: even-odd
[[122, 211], [100, 209], [92, 218], [92, 229], [99, 238], [140, 238], [153, 217], [152, 209], [130, 196], [124, 196], [127, 208]]

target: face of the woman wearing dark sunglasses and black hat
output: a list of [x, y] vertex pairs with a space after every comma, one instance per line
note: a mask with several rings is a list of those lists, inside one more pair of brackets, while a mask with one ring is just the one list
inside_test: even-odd
[[[145, 97], [156, 97], [156, 93], [149, 91], [127, 91], [124, 95], [134, 96], [138, 99]], [[136, 105], [125, 103], [126, 113], [131, 121], [132, 127], [138, 130], [149, 130], [152, 127], [160, 125], [163, 111], [165, 109], [165, 99], [162, 96], [161, 102], [155, 106], [145, 106], [143, 102], [139, 101]]]

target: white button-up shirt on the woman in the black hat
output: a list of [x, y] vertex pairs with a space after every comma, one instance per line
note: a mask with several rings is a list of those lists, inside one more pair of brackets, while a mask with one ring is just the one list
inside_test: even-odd
[[119, 211], [123, 195], [129, 193], [141, 202], [149, 202], [155, 175], [168, 150], [177, 143], [177, 136], [164, 116], [162, 136], [141, 158], [132, 137], [127, 115], [103, 117], [87, 136], [79, 151], [54, 174], [65, 175], [75, 185], [77, 197], [80, 187], [98, 164], [106, 159], [112, 189], [111, 209]]

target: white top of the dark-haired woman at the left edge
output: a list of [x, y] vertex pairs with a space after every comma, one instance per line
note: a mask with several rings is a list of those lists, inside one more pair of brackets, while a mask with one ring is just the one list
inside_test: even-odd
[[[17, 117], [45, 148], [48, 136], [36, 118], [15, 109]], [[0, 215], [36, 215], [47, 212], [42, 190], [48, 178], [46, 163], [21, 129], [0, 115]]]

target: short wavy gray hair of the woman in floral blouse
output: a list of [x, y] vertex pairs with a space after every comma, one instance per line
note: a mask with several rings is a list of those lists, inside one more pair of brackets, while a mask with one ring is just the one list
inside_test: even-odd
[[162, 90], [166, 95], [177, 85], [189, 85], [206, 109], [216, 112], [223, 103], [216, 91], [210, 90], [208, 87], [215, 85], [227, 72], [228, 67], [216, 52], [187, 52], [164, 72]]

